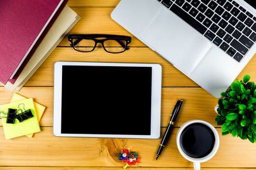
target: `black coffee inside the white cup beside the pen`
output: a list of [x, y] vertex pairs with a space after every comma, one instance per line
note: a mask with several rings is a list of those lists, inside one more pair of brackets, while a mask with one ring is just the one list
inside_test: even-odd
[[200, 123], [188, 125], [180, 136], [182, 150], [193, 158], [202, 158], [211, 153], [214, 143], [212, 130]]

